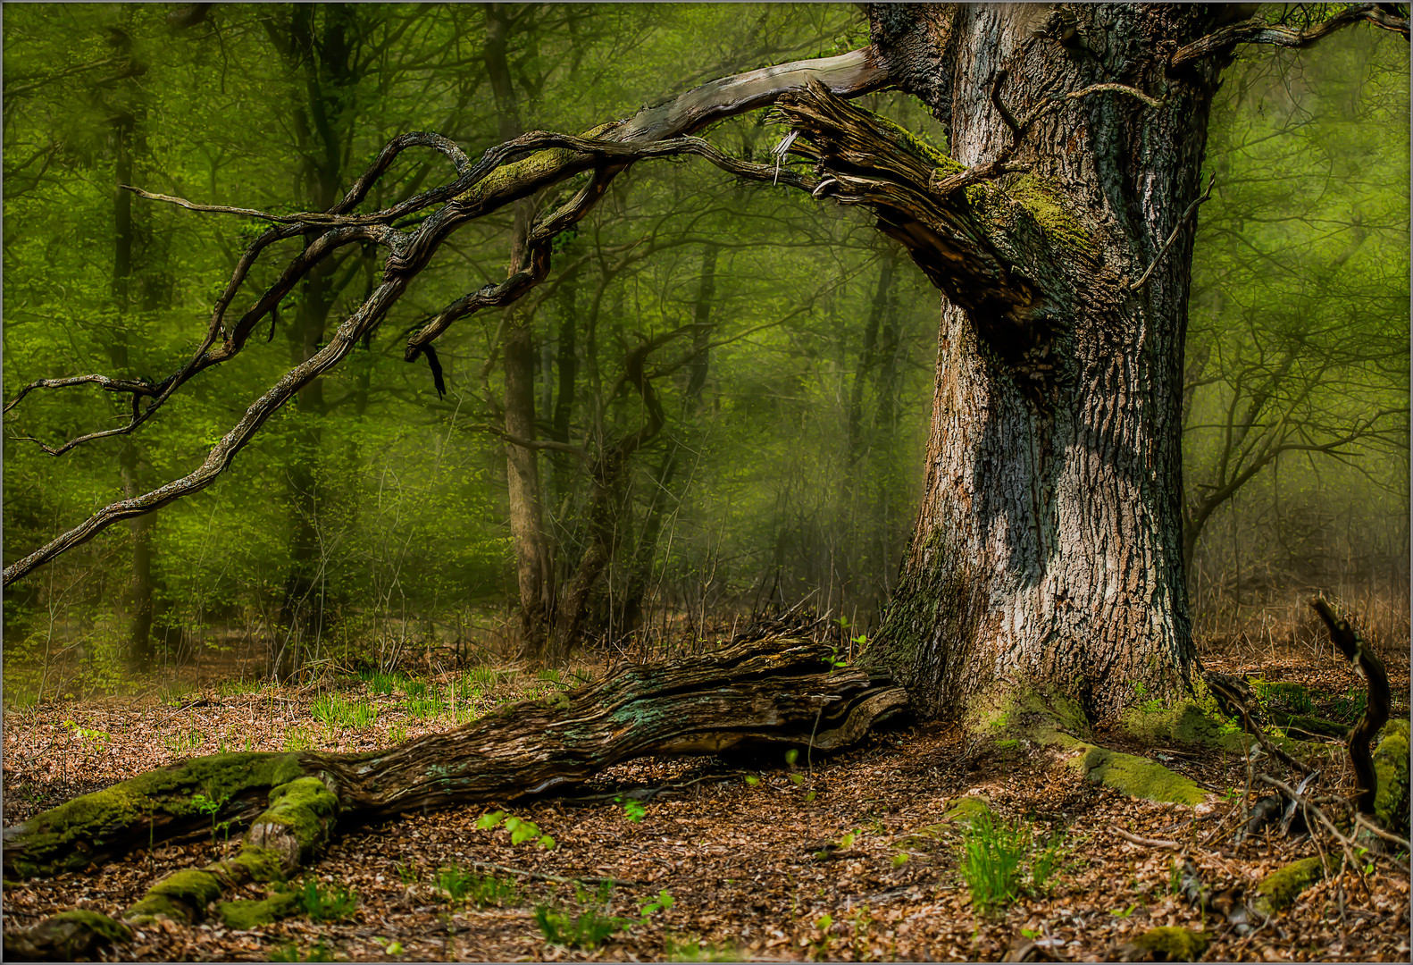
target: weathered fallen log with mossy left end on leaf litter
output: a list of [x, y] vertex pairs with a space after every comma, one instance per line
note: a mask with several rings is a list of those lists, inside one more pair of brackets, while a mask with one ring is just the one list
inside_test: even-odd
[[[4, 870], [7, 877], [55, 875], [136, 846], [191, 839], [220, 821], [250, 824], [259, 815], [236, 862], [177, 872], [123, 914], [129, 921], [192, 921], [232, 883], [292, 873], [312, 856], [325, 822], [346, 827], [407, 811], [551, 794], [646, 754], [771, 745], [831, 752], [856, 743], [906, 706], [904, 691], [887, 678], [834, 670], [825, 644], [800, 637], [740, 641], [674, 664], [627, 667], [598, 684], [506, 706], [387, 750], [218, 754], [148, 771], [6, 828]], [[322, 787], [300, 800], [326, 791], [329, 803], [315, 815], [321, 827], [304, 834], [300, 821], [308, 815], [287, 800], [295, 800], [290, 788], [314, 786], [309, 778]], [[244, 858], [250, 860], [240, 863]], [[178, 894], [178, 877], [196, 882], [201, 900]], [[52, 923], [8, 934], [7, 948], [23, 947], [37, 957], [88, 948], [89, 935], [71, 934], [83, 923], [65, 920], [62, 930]], [[54, 941], [61, 933], [62, 949]]]

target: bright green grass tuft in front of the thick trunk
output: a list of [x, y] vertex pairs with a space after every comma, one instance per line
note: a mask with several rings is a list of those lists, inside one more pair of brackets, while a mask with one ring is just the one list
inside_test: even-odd
[[974, 818], [962, 831], [959, 866], [972, 904], [988, 913], [1010, 904], [1027, 889], [1043, 890], [1061, 868], [1061, 846], [1058, 835], [1039, 843], [1030, 822], [1009, 824], [991, 814]]

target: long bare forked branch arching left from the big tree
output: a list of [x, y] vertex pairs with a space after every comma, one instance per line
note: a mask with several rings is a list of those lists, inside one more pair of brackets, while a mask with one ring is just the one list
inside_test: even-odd
[[[753, 165], [738, 158], [729, 158], [705, 141], [688, 137], [688, 134], [716, 120], [774, 103], [781, 95], [797, 90], [807, 83], [820, 85], [836, 96], [856, 96], [876, 90], [887, 82], [889, 75], [886, 69], [879, 66], [870, 49], [815, 61], [796, 61], [793, 64], [783, 64], [714, 81], [654, 107], [644, 107], [625, 123], [603, 124], [589, 131], [588, 137], [531, 133], [490, 148], [475, 165], [468, 165], [461, 148], [456, 148], [447, 138], [425, 133], [404, 134], [383, 148], [343, 199], [325, 212], [324, 220], [294, 218], [291, 223], [281, 223], [276, 216], [254, 212], [253, 209], [230, 209], [223, 212], [253, 218], [264, 216], [267, 220], [276, 220], [276, 226], [256, 239], [236, 264], [226, 290], [216, 302], [206, 336], [198, 352], [181, 372], [161, 383], [161, 391], [146, 410], [138, 411], [134, 404], [133, 418], [129, 424], [105, 434], [131, 432], [196, 372], [237, 355], [249, 339], [256, 322], [264, 315], [271, 314], [280, 300], [292, 290], [294, 284], [318, 260], [326, 257], [335, 249], [360, 242], [373, 242], [386, 246], [390, 253], [384, 264], [383, 283], [339, 326], [336, 335], [324, 349], [304, 363], [290, 369], [264, 396], [256, 400], [246, 410], [246, 415], [240, 422], [226, 432], [206, 455], [202, 465], [192, 473], [153, 492], [103, 507], [75, 528], [55, 537], [40, 550], [7, 567], [4, 569], [4, 585], [8, 586], [35, 567], [92, 540], [113, 523], [150, 513], [178, 499], [201, 492], [215, 482], [271, 414], [302, 386], [342, 362], [359, 341], [377, 328], [389, 308], [407, 288], [411, 278], [427, 266], [441, 243], [463, 223], [497, 211], [520, 198], [526, 198], [540, 188], [561, 182], [581, 171], [595, 167], [602, 168], [591, 187], [581, 192], [574, 202], [536, 227], [531, 235], [534, 250], [527, 271], [520, 271], [500, 285], [490, 287], [490, 290], [482, 290], [469, 295], [469, 301], [465, 304], [456, 302], [444, 309], [438, 315], [441, 321], [434, 319], [431, 325], [424, 328], [410, 342], [408, 357], [415, 357], [420, 349], [430, 345], [441, 331], [445, 331], [445, 326], [455, 316], [476, 311], [486, 304], [509, 304], [538, 284], [548, 271], [550, 240], [555, 233], [582, 218], [592, 203], [602, 196], [615, 168], [622, 170], [644, 157], [698, 154], [726, 171], [742, 177], [763, 178], [767, 170], [766, 165]], [[349, 218], [349, 212], [363, 199], [369, 188], [391, 164], [393, 158], [401, 150], [413, 146], [428, 146], [442, 151], [452, 160], [461, 177], [449, 185], [434, 188], [376, 215]], [[527, 150], [536, 150], [537, 153], [521, 161], [507, 162], [512, 155]], [[788, 182], [805, 189], [815, 187], [812, 181], [807, 181], [796, 174], [790, 174]], [[181, 203], [179, 199], [164, 198], [164, 201]], [[401, 218], [413, 211], [421, 211], [441, 202], [447, 203], [428, 215], [415, 232], [397, 232], [389, 223], [394, 218]], [[201, 206], [191, 205], [189, 202], [182, 206], [202, 211]], [[240, 290], [261, 251], [278, 240], [308, 233], [311, 225], [328, 225], [328, 229], [307, 243], [304, 251], [291, 260], [280, 280], [266, 290], [256, 305], [242, 315], [227, 335], [223, 324], [226, 308]], [[222, 339], [222, 346], [212, 350], [218, 338]], [[642, 362], [639, 362], [639, 370], [640, 367]], [[97, 381], [97, 377], [86, 379], [86, 381]], [[110, 384], [117, 383], [110, 380]], [[644, 400], [649, 400], [651, 389], [646, 383], [642, 389]], [[96, 435], [100, 434], [86, 438], [95, 438]], [[72, 441], [65, 446], [59, 446], [57, 452], [66, 451], [76, 444], [78, 441]]]

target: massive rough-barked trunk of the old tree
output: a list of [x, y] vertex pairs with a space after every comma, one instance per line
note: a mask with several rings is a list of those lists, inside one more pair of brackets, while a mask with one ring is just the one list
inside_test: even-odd
[[[954, 191], [972, 236], [952, 226], [938, 243], [879, 208], [945, 298], [926, 495], [869, 660], [927, 712], [996, 687], [1057, 685], [1092, 712], [1132, 699], [1135, 684], [1171, 688], [1193, 657], [1184, 212], [1201, 189], [1217, 65], [1169, 76], [1161, 41], [1200, 37], [1214, 14], [1016, 4], [872, 17], [893, 76], [944, 123], [955, 161], [979, 170], [1009, 154], [1026, 170]], [[1058, 100], [1098, 83], [1161, 105], [1112, 89]]]

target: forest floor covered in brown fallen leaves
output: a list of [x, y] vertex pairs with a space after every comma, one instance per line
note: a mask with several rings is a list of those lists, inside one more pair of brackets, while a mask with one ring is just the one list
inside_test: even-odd
[[[1407, 654], [1390, 654], [1396, 714], [1407, 715]], [[1207, 654], [1210, 668], [1255, 671], [1310, 688], [1317, 711], [1362, 682], [1308, 650], [1265, 653], [1259, 665]], [[226, 684], [172, 705], [158, 698], [59, 704], [4, 715], [4, 822], [23, 821], [138, 771], [220, 749], [298, 746], [363, 750], [449, 726], [555, 681], [480, 671], [418, 697], [408, 681], [345, 680], [346, 698], [377, 708], [365, 726], [321, 723], [312, 689]], [[415, 684], [411, 689], [417, 691]], [[451, 706], [458, 697], [459, 705]], [[325, 698], [326, 699], [326, 698]], [[421, 702], [418, 702], [421, 701]], [[328, 705], [322, 712], [328, 716]], [[552, 851], [483, 829], [482, 807], [406, 815], [348, 829], [308, 870], [325, 896], [348, 889], [339, 921], [287, 918], [259, 931], [218, 923], [143, 928], [112, 959], [144, 961], [996, 961], [1027, 940], [1056, 959], [1104, 961], [1154, 925], [1207, 930], [1208, 961], [1409, 961], [1409, 875], [1381, 859], [1303, 892], [1294, 907], [1238, 935], [1190, 906], [1173, 862], [1191, 859], [1214, 889], [1253, 886], [1267, 872], [1318, 853], [1316, 842], [1252, 838], [1232, 843], [1246, 766], [1239, 756], [1142, 749], [1116, 732], [1096, 740], [1163, 760], [1212, 791], [1195, 808], [1133, 800], [1085, 783], [1047, 752], [981, 756], [962, 732], [924, 725], [873, 735], [866, 745], [807, 762], [687, 757], [620, 764], [596, 790], [674, 786], [642, 805], [517, 803], [509, 810], [552, 835]], [[1349, 776], [1338, 780], [1349, 784]], [[1324, 783], [1324, 793], [1349, 787]], [[595, 788], [591, 788], [595, 790]], [[942, 824], [952, 801], [982, 795], [1034, 852], [1060, 842], [1039, 887], [999, 908], [978, 908], [959, 865], [962, 829]], [[1252, 795], [1255, 797], [1255, 794]], [[940, 827], [934, 827], [940, 825]], [[1115, 828], [1178, 848], [1132, 843]], [[199, 866], [235, 842], [134, 853], [52, 880], [6, 883], [4, 927], [66, 908], [119, 916], [158, 877]], [[1338, 868], [1338, 859], [1335, 859]], [[452, 901], [441, 883], [458, 869], [499, 880], [499, 894]], [[601, 879], [613, 879], [602, 883]], [[463, 882], [465, 883], [465, 882]], [[305, 883], [305, 887], [308, 884]], [[670, 907], [653, 907], [651, 903]], [[260, 897], [250, 890], [247, 897]], [[644, 908], [644, 906], [647, 906]], [[610, 921], [616, 920], [616, 921]], [[574, 923], [603, 925], [596, 948], [567, 948]], [[560, 930], [551, 942], [550, 930]]]

